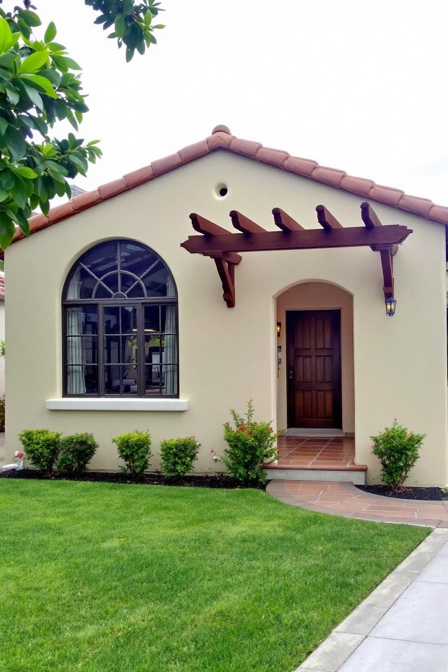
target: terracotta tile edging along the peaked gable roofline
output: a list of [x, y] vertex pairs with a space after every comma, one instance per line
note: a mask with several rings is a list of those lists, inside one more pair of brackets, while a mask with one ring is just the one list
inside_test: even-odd
[[[81, 196], [76, 196], [71, 202], [52, 208], [48, 212], [48, 217], [38, 214], [30, 218], [30, 233], [36, 233], [41, 228], [45, 228], [55, 222], [60, 222], [60, 220], [66, 219], [80, 210], [95, 206], [107, 198], [121, 194], [128, 189], [132, 189], [132, 187], [154, 179], [158, 175], [163, 175], [163, 173], [167, 173], [180, 165], [198, 159], [216, 149], [224, 149], [234, 154], [245, 155], [255, 159], [255, 161], [268, 163], [290, 173], [314, 179], [323, 184], [351, 192], [352, 194], [359, 194], [359, 196], [363, 196], [369, 200], [394, 206], [400, 210], [412, 212], [435, 222], [448, 224], [448, 207], [435, 205], [433, 202], [424, 198], [418, 198], [417, 196], [406, 196], [402, 190], [384, 187], [363, 177], [353, 177], [347, 175], [342, 170], [320, 166], [316, 161], [310, 161], [310, 159], [292, 157], [287, 152], [263, 147], [259, 142], [235, 138], [227, 126], [220, 124], [219, 126], [215, 126], [212, 135], [208, 136], [206, 140], [190, 144], [169, 157], [153, 161], [150, 166], [140, 168], [120, 179], [103, 184], [93, 192], [86, 192], [85, 194], [81, 194]], [[24, 235], [20, 231], [17, 231], [13, 242], [21, 238], [24, 238]]]

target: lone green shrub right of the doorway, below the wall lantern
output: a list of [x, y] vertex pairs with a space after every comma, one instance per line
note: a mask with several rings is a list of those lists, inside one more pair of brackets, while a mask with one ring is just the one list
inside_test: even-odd
[[371, 436], [373, 455], [381, 462], [381, 477], [384, 485], [393, 490], [402, 487], [408, 473], [420, 457], [419, 451], [427, 435], [414, 434], [395, 419], [392, 427], [386, 427], [377, 436]]

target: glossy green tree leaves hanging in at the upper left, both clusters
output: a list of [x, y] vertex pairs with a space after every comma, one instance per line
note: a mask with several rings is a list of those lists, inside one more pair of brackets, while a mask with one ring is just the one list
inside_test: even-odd
[[[12, 2], [11, 2], [12, 4]], [[154, 0], [85, 0], [99, 12], [95, 23], [114, 32], [126, 46], [126, 60], [156, 42], [152, 25], [160, 8]], [[17, 226], [29, 235], [36, 208], [48, 213], [55, 196], [71, 198], [67, 178], [85, 175], [101, 157], [98, 140], [85, 144], [70, 132], [50, 138], [49, 130], [67, 120], [75, 130], [89, 108], [79, 76], [81, 67], [56, 42], [56, 26], [34, 36], [42, 22], [30, 0], [11, 11], [0, 0], [0, 247], [12, 241]]]

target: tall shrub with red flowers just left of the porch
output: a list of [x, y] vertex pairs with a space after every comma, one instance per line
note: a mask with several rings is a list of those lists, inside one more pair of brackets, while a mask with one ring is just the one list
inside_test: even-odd
[[277, 457], [278, 433], [274, 433], [270, 422], [253, 419], [253, 399], [249, 399], [244, 417], [233, 409], [230, 413], [235, 429], [228, 422], [224, 425], [224, 439], [228, 448], [220, 460], [226, 465], [229, 476], [241, 483], [263, 482], [266, 479], [262, 471], [263, 463], [273, 462]]

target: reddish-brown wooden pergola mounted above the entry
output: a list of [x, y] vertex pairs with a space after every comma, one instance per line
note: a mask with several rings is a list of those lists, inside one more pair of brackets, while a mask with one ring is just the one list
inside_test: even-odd
[[200, 235], [189, 236], [181, 247], [191, 254], [201, 254], [214, 259], [224, 290], [228, 308], [235, 305], [235, 266], [242, 257], [239, 252], [267, 250], [303, 250], [330, 247], [370, 247], [379, 252], [384, 280], [384, 296], [394, 294], [393, 257], [412, 229], [401, 224], [382, 222], [371, 205], [361, 203], [363, 226], [342, 224], [325, 206], [317, 206], [317, 219], [321, 228], [306, 229], [281, 208], [273, 208], [274, 223], [279, 231], [267, 231], [244, 214], [231, 210], [230, 219], [240, 233], [230, 233], [226, 228], [210, 222], [199, 214], [190, 214], [193, 228]]

